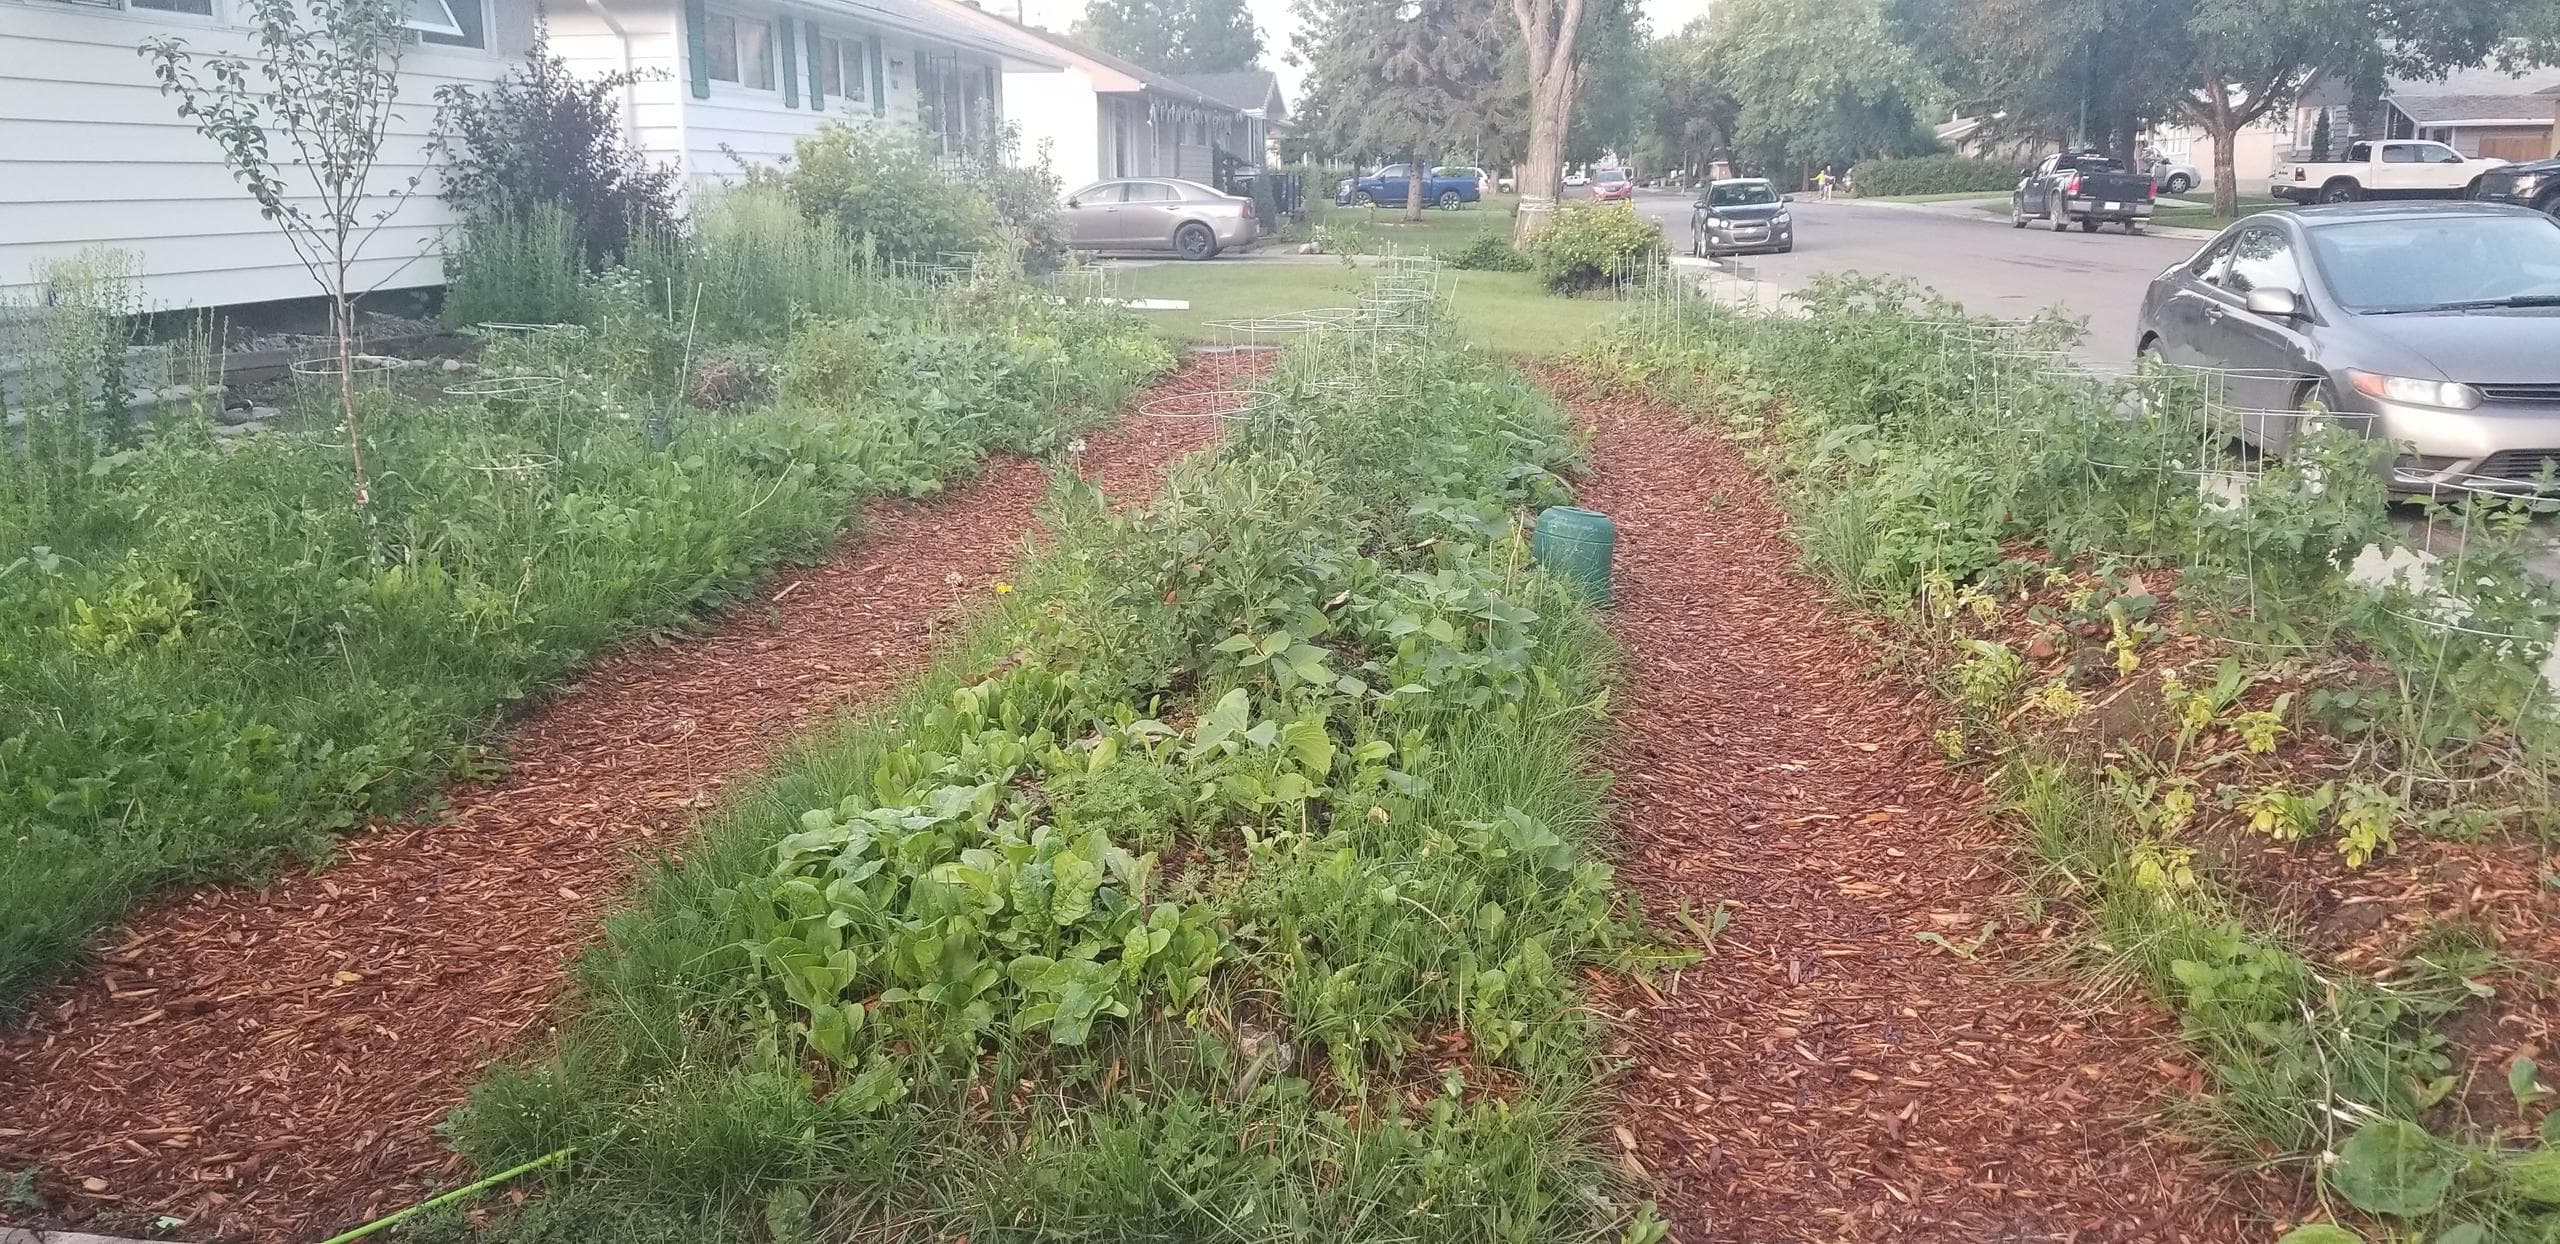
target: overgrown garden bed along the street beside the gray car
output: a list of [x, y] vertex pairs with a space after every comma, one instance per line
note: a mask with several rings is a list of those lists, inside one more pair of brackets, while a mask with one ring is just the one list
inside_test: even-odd
[[1802, 317], [1669, 297], [1587, 376], [1777, 474], [1805, 563], [1958, 706], [1935, 745], [2022, 832], [2012, 919], [2176, 1019], [2168, 1116], [2263, 1172], [2235, 1198], [2299, 1241], [2547, 1239], [2540, 504], [2465, 499], [2432, 571], [2373, 581], [2388, 445], [2230, 456], [2212, 376], [2079, 379], [2061, 333], [1833, 282]]

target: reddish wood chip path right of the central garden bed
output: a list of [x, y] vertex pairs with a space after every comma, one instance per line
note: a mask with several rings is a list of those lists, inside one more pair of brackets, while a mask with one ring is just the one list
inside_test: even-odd
[[1920, 939], [2015, 924], [2004, 829], [1930, 742], [1935, 701], [1795, 568], [1759, 474], [1672, 407], [1572, 402], [1577, 491], [1618, 522], [1620, 875], [1674, 937], [1682, 901], [1738, 904], [1700, 965], [1605, 991], [1613, 1131], [1674, 1239], [2266, 1239], [2148, 1121], [2186, 1083], [2163, 1016], [2038, 978], [2033, 932], [1971, 960]]

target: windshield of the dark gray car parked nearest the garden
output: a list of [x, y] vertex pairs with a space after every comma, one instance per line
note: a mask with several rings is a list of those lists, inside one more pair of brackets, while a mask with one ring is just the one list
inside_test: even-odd
[[2560, 225], [2542, 215], [2350, 220], [2309, 230], [2358, 315], [2560, 305]]

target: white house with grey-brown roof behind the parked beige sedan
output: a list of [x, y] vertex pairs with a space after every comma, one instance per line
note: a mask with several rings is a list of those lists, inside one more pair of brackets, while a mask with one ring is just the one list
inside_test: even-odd
[[1029, 151], [1047, 148], [1068, 189], [1106, 177], [1183, 177], [1216, 184], [1224, 171], [1257, 169], [1267, 120], [1206, 90], [1129, 64], [1078, 38], [1039, 31], [960, 0], [929, 3], [955, 20], [1024, 38], [1065, 72], [1006, 72], [1004, 118]]

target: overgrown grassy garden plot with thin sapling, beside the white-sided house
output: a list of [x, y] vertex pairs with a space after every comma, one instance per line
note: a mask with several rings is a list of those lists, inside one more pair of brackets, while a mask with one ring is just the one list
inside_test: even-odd
[[143, 893], [325, 857], [471, 773], [499, 709], [824, 548], [858, 499], [1057, 448], [1167, 366], [1126, 320], [891, 279], [735, 195], [579, 323], [486, 333], [471, 376], [358, 363], [358, 512], [335, 376], [269, 435], [207, 397], [138, 427], [100, 387], [115, 289], [51, 284], [54, 379], [0, 491], [0, 1009]]

